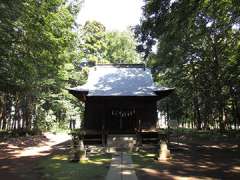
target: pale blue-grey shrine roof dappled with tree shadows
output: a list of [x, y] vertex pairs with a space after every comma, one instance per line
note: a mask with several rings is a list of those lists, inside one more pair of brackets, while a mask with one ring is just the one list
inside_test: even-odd
[[71, 91], [88, 91], [88, 96], [156, 96], [151, 71], [140, 66], [95, 66], [90, 68], [87, 83], [70, 88]]

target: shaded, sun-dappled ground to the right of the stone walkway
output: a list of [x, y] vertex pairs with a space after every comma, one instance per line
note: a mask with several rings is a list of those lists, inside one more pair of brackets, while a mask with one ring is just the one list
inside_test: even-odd
[[[240, 150], [231, 143], [179, 143], [171, 146], [172, 159], [158, 162], [149, 151], [133, 155], [140, 180], [240, 179]], [[150, 157], [149, 157], [150, 156]]]

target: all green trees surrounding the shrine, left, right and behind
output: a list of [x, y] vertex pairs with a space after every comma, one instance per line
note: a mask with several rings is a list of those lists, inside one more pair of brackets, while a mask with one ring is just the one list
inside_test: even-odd
[[84, 105], [66, 88], [85, 83], [88, 68], [81, 64], [142, 57], [157, 83], [176, 88], [159, 104], [171, 119], [198, 129], [239, 127], [239, 1], [144, 2], [133, 34], [107, 31], [97, 21], [78, 25], [80, 0], [1, 1], [0, 129], [80, 121]]

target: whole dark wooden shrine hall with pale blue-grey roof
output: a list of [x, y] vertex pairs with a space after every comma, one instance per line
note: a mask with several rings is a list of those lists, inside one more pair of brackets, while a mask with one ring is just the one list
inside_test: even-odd
[[99, 135], [102, 144], [109, 135], [156, 130], [157, 101], [173, 91], [156, 86], [143, 64], [96, 65], [90, 68], [86, 84], [68, 90], [85, 103], [81, 128], [86, 139]]

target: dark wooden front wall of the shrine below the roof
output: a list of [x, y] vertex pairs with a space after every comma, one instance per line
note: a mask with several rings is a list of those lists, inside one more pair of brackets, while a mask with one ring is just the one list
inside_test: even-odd
[[[111, 131], [111, 127], [114, 127], [116, 130], [116, 125], [111, 126], [110, 124], [118, 123], [111, 116], [112, 110], [116, 109], [134, 109], [135, 116], [131, 116], [131, 123], [135, 124], [136, 129], [149, 130], [156, 127], [157, 106], [156, 99], [152, 97], [88, 97], [85, 103], [84, 128], [97, 131], [102, 131], [102, 129]], [[124, 117], [125, 120], [126, 118]], [[125, 125], [124, 127], [127, 126]], [[132, 124], [129, 124], [129, 127], [132, 127]]]

